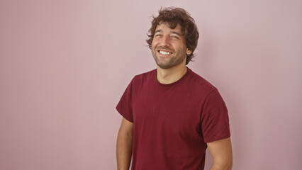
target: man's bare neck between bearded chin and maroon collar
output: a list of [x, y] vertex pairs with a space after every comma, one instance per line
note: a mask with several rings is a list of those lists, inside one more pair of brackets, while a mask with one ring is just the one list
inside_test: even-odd
[[157, 66], [157, 81], [161, 84], [172, 84], [186, 74], [186, 65], [172, 67], [170, 69], [162, 69]]

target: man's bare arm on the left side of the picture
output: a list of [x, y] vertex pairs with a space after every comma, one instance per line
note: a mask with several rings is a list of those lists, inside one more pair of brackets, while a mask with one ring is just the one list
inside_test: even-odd
[[118, 170], [129, 169], [133, 145], [133, 123], [123, 118], [116, 142]]

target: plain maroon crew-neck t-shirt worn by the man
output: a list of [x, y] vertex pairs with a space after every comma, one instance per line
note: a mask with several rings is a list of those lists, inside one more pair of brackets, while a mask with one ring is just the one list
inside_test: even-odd
[[203, 169], [206, 142], [230, 137], [223, 98], [189, 68], [172, 84], [156, 76], [135, 76], [116, 106], [134, 126], [132, 169]]

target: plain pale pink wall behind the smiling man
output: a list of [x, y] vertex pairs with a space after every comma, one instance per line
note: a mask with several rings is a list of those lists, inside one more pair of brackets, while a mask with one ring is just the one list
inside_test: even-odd
[[189, 67], [228, 106], [233, 169], [301, 169], [299, 0], [1, 0], [0, 169], [116, 169], [115, 106], [156, 67], [145, 39], [160, 6], [196, 20]]

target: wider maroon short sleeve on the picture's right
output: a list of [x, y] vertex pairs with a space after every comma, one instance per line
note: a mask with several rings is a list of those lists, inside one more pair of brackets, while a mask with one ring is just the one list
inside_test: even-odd
[[208, 94], [203, 105], [201, 132], [206, 143], [230, 137], [228, 110], [217, 89]]

